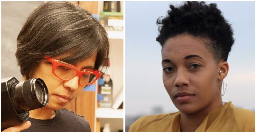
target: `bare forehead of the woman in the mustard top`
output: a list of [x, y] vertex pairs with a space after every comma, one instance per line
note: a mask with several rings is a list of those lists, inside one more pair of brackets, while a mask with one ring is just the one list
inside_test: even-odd
[[204, 41], [191, 35], [183, 34], [169, 38], [162, 48], [162, 59], [184, 58], [188, 55], [199, 55], [203, 58], [213, 59]]

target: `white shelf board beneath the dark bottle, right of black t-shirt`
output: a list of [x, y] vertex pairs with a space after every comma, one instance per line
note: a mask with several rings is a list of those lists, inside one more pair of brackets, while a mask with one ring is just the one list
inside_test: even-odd
[[123, 118], [123, 109], [97, 108], [96, 118]]

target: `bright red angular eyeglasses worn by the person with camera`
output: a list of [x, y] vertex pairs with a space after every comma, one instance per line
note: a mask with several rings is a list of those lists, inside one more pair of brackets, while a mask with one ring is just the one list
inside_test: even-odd
[[49, 58], [49, 56], [46, 56], [44, 58], [53, 64], [52, 73], [56, 77], [64, 81], [68, 81], [75, 76], [79, 76], [80, 85], [89, 85], [94, 83], [101, 76], [101, 73], [96, 69], [84, 69], [83, 71], [81, 71], [78, 70], [77, 66], [68, 64], [60, 60], [56, 60], [51, 57]]

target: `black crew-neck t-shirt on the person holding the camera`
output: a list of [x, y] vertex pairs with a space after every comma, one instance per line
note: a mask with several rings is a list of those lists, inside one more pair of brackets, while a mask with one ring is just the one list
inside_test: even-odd
[[56, 111], [52, 119], [28, 118], [31, 127], [22, 132], [91, 132], [89, 123], [83, 116], [65, 108]]

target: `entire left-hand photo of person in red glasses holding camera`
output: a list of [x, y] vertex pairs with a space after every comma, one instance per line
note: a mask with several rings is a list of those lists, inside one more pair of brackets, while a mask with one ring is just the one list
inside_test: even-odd
[[123, 2], [1, 2], [1, 131], [123, 131]]

